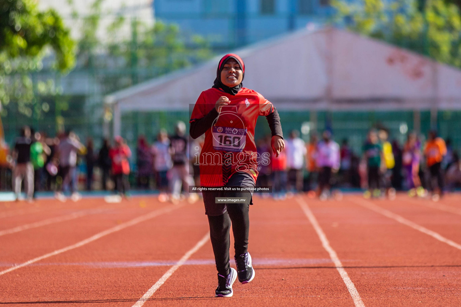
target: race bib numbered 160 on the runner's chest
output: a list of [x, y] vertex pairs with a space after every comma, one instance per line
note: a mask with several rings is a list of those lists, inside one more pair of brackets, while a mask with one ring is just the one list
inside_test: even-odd
[[213, 126], [213, 149], [241, 152], [245, 148], [247, 129]]

